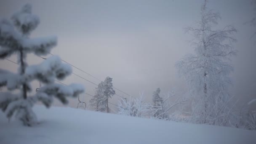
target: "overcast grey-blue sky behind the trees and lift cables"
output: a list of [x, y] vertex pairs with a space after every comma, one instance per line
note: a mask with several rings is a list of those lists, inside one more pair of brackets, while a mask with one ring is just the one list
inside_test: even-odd
[[[101, 80], [112, 77], [116, 88], [132, 96], [144, 91], [147, 100], [156, 88], [161, 93], [173, 87], [179, 94], [187, 91], [174, 65], [193, 51], [188, 42], [192, 37], [183, 28], [200, 19], [202, 0], [1, 0], [0, 18], [9, 18], [25, 3], [31, 3], [33, 13], [40, 17], [31, 36], [57, 35], [58, 45], [51, 53], [85, 72]], [[244, 24], [256, 13], [251, 0], [210, 0], [208, 7], [221, 14], [218, 27], [233, 24], [238, 30], [234, 47], [239, 53], [233, 58], [230, 91], [243, 104], [256, 98], [256, 38], [250, 39], [256, 29]], [[16, 61], [15, 56], [10, 59]], [[28, 56], [29, 64], [42, 60]], [[0, 64], [1, 68], [16, 69], [6, 60]], [[99, 83], [77, 69], [73, 72]], [[63, 82], [82, 83], [90, 94], [96, 87], [75, 75]], [[34, 88], [38, 86], [35, 82]], [[76, 104], [73, 100], [69, 106]]]

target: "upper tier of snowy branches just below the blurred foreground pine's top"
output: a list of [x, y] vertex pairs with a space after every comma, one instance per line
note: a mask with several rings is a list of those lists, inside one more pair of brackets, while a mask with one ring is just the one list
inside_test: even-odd
[[33, 52], [38, 56], [48, 54], [57, 45], [57, 37], [27, 38], [16, 32], [7, 19], [0, 19], [0, 58], [4, 59], [16, 51]]

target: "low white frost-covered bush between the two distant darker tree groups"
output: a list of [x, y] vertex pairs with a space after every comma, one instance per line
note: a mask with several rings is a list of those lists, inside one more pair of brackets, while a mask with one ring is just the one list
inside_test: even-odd
[[133, 117], [147, 117], [152, 110], [152, 106], [144, 102], [144, 95], [140, 93], [139, 98], [121, 99], [118, 102], [118, 114]]

